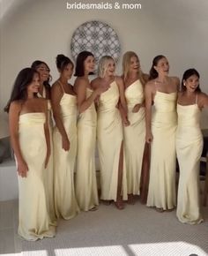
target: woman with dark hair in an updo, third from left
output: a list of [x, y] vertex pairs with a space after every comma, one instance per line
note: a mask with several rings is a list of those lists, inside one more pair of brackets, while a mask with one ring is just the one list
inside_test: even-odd
[[52, 86], [51, 102], [54, 128], [55, 207], [57, 217], [69, 220], [78, 214], [74, 190], [74, 168], [77, 155], [77, 96], [68, 80], [73, 64], [67, 56], [56, 56], [60, 78]]

